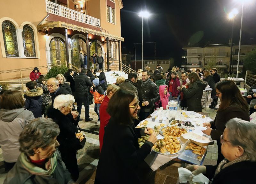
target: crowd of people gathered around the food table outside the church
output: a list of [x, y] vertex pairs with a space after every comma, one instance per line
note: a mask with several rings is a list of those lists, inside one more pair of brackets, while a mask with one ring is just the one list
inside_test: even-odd
[[[92, 60], [103, 63], [99, 57]], [[249, 108], [237, 86], [231, 80], [220, 81], [217, 69], [201, 73], [172, 67], [164, 74], [160, 65], [155, 71], [146, 66], [129, 73], [127, 79], [118, 77], [112, 85], [107, 85], [102, 68], [99, 76], [95, 70], [81, 63], [79, 74], [68, 69], [65, 75], [58, 74], [46, 83], [35, 68], [25, 94], [0, 92], [0, 142], [5, 170], [9, 171], [4, 183], [24, 183], [25, 178], [28, 183], [75, 183], [79, 177], [76, 152], [83, 148], [81, 136], [76, 136], [78, 123], [83, 120], [81, 109], [84, 105], [85, 121], [92, 121], [89, 105], [93, 102], [98, 116], [95, 125], [100, 126], [95, 184], [141, 183], [137, 168], [156, 143], [157, 133], [136, 125], [157, 107], [166, 109], [170, 100], [188, 107], [188, 111], [202, 112], [207, 85], [212, 88], [209, 107], [215, 108], [220, 99], [214, 121], [204, 123], [203, 130], [217, 141], [217, 166], [193, 165], [188, 169], [195, 175], [204, 173], [212, 183], [225, 183], [232, 172], [254, 171], [255, 124], [248, 122]], [[138, 138], [145, 134], [148, 141], [139, 147]], [[232, 181], [239, 183], [235, 178]], [[247, 183], [253, 180], [246, 179]]]

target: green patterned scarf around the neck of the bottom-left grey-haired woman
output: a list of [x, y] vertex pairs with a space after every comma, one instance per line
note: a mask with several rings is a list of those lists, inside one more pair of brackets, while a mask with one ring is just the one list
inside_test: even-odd
[[20, 154], [20, 162], [22, 164], [22, 166], [31, 174], [35, 174], [35, 175], [52, 175], [52, 173], [54, 172], [56, 166], [57, 166], [57, 153], [54, 152], [52, 157], [49, 158], [49, 161], [47, 161], [45, 163], [45, 168], [47, 170], [44, 170], [40, 167], [35, 166], [34, 164], [32, 164], [28, 157], [25, 155], [25, 153], [21, 153]]

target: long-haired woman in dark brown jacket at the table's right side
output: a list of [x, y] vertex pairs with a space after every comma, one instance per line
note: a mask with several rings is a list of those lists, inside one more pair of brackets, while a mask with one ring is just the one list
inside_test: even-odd
[[220, 136], [223, 134], [226, 123], [232, 118], [249, 121], [250, 117], [247, 102], [233, 81], [226, 79], [218, 82], [216, 96], [220, 99], [220, 107], [214, 121], [204, 123], [207, 129], [203, 132], [217, 141], [219, 151], [217, 164], [219, 164], [224, 159], [220, 152]]

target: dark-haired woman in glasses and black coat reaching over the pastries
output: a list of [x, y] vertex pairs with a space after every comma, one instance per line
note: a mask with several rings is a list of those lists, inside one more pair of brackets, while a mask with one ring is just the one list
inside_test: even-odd
[[[139, 109], [137, 95], [128, 90], [118, 90], [109, 100], [107, 112], [111, 118], [105, 127], [95, 184], [141, 183], [137, 168], [156, 143], [157, 134], [151, 134], [150, 128], [134, 127]], [[138, 138], [145, 133], [150, 137], [140, 148]]]

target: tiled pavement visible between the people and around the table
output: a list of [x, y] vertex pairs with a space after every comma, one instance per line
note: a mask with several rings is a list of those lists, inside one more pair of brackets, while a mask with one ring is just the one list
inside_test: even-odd
[[[210, 96], [210, 95], [209, 95]], [[218, 107], [218, 106], [217, 106]], [[214, 119], [216, 110], [211, 110], [206, 108], [206, 111], [203, 112], [209, 113], [209, 117]], [[82, 115], [84, 115], [84, 108], [82, 108]], [[86, 134], [87, 142], [84, 146], [84, 149], [79, 150], [77, 154], [77, 161], [79, 167], [79, 179], [76, 183], [80, 184], [93, 184], [95, 180], [95, 169], [98, 164], [99, 159], [99, 126], [95, 126], [97, 122], [97, 115], [94, 113], [94, 104], [90, 105], [90, 117], [93, 117], [94, 120], [91, 122], [80, 121], [79, 126], [84, 130]], [[84, 117], [81, 117], [84, 118]], [[207, 155], [204, 159], [204, 165], [216, 165], [218, 156], [217, 144], [208, 147]], [[147, 164], [144, 164], [140, 167], [143, 183], [147, 184], [176, 184], [178, 179], [178, 167], [181, 164], [170, 161], [164, 166], [158, 168], [155, 172], [148, 167]], [[0, 148], [0, 184], [3, 183], [6, 173], [4, 172], [4, 163], [2, 157], [2, 149]]]

